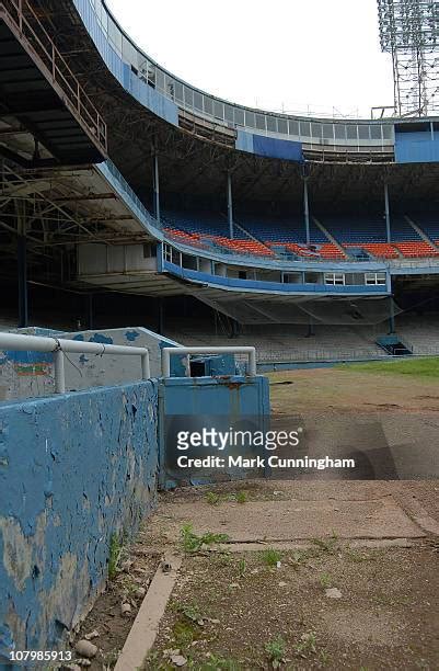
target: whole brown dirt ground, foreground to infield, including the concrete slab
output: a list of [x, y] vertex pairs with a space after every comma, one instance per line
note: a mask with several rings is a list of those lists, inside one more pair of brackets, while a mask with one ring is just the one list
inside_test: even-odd
[[439, 669], [437, 382], [334, 368], [269, 378], [277, 428], [300, 422], [310, 454], [357, 450], [373, 467], [361, 480], [298, 474], [161, 493], [77, 637], [100, 632], [92, 671], [113, 668], [136, 590], [170, 549], [184, 561], [147, 671]]

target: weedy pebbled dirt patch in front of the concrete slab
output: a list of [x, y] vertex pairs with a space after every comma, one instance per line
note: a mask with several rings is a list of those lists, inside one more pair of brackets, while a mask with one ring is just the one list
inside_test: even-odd
[[267, 551], [188, 557], [145, 669], [270, 669], [274, 645], [290, 670], [438, 668], [431, 548]]

